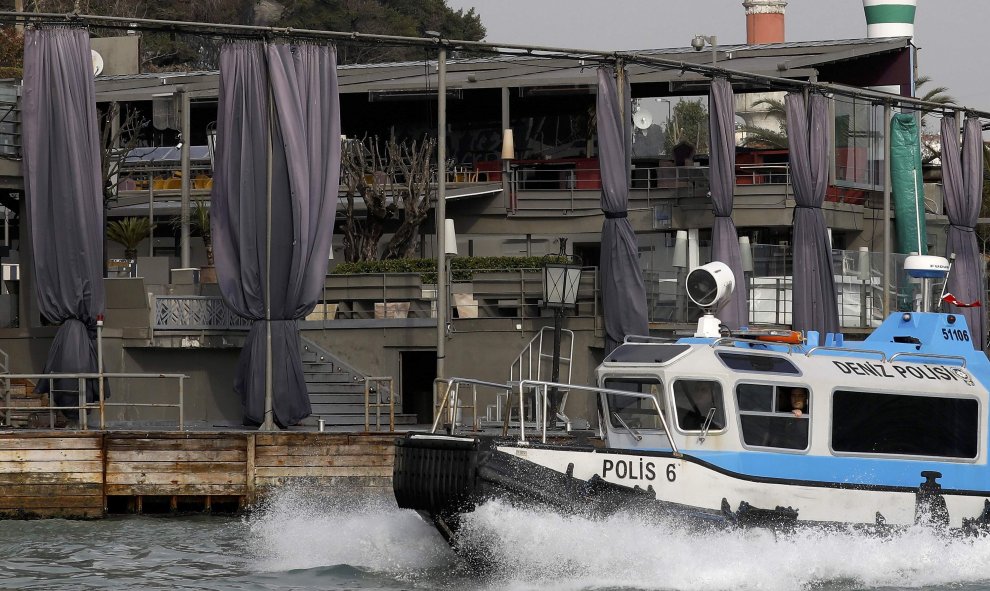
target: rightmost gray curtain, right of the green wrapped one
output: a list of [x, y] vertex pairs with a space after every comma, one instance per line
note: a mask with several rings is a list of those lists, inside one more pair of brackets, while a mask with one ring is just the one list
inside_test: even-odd
[[[983, 200], [983, 140], [979, 119], [966, 119], [960, 157], [959, 124], [954, 116], [942, 117], [942, 182], [945, 210], [949, 214], [945, 253], [956, 255], [946, 291], [961, 302], [984, 303], [983, 256], [974, 232]], [[973, 335], [973, 347], [982, 351], [987, 336], [983, 307], [956, 308], [953, 311], [966, 317], [969, 332]]]

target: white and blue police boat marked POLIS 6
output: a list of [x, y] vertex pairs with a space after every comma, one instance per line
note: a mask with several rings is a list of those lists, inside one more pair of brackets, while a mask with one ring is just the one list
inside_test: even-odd
[[[927, 310], [950, 264], [914, 256], [905, 267], [922, 279]], [[711, 311], [732, 283], [715, 262], [686, 285]], [[455, 548], [464, 515], [496, 498], [591, 516], [649, 509], [714, 526], [990, 523], [990, 362], [960, 314], [896, 312], [851, 341], [810, 331], [726, 335], [706, 313], [693, 336], [628, 337], [596, 379], [594, 387], [450, 380], [433, 432], [396, 442], [398, 505]], [[451, 409], [481, 387], [501, 388], [517, 408], [535, 403], [536, 420], [457, 433]], [[564, 394], [560, 413], [548, 411], [555, 393]], [[581, 413], [597, 428], [570, 429], [578, 421], [569, 416]], [[559, 422], [568, 430], [548, 428]]]

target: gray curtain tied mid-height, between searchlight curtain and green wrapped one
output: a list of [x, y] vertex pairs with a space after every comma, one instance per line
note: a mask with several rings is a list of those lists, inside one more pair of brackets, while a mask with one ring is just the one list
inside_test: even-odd
[[791, 286], [795, 330], [839, 331], [838, 300], [822, 203], [828, 189], [828, 99], [818, 93], [787, 95], [787, 143], [794, 186], [794, 279]]

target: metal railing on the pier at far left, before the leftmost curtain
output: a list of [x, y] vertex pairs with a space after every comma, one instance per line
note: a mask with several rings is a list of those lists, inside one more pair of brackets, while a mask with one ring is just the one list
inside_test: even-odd
[[[136, 380], [136, 379], [167, 379], [167, 380], [177, 380], [178, 381], [178, 400], [174, 403], [170, 402], [107, 402], [104, 395], [105, 388], [96, 388], [97, 400], [95, 402], [87, 402], [87, 382], [89, 380], [94, 380], [99, 382], [100, 379], [104, 382], [110, 379], [126, 379], [126, 380]], [[48, 404], [38, 404], [34, 406], [23, 406], [15, 405], [11, 401], [11, 388], [7, 386], [4, 390], [4, 404], [0, 406], [0, 415], [3, 416], [3, 424], [9, 426], [11, 423], [11, 417], [15, 413], [28, 413], [35, 414], [39, 412], [47, 412], [48, 415], [48, 426], [49, 428], [54, 428], [56, 426], [56, 418], [58, 414], [62, 414], [65, 411], [75, 411], [79, 413], [79, 429], [87, 430], [89, 428], [88, 418], [86, 414], [90, 410], [98, 411], [99, 416], [99, 428], [101, 430], [106, 429], [106, 409], [108, 407], [126, 407], [126, 408], [175, 408], [178, 411], [177, 426], [180, 431], [185, 430], [185, 383], [189, 376], [184, 374], [149, 374], [149, 373], [59, 373], [59, 374], [5, 374], [4, 381], [12, 380], [31, 380], [36, 383], [41, 383], [47, 381], [49, 384]], [[69, 383], [75, 382], [74, 387], [66, 387], [66, 381]], [[36, 386], [37, 387], [37, 386]], [[58, 405], [54, 404], [54, 399], [57, 394], [68, 394], [77, 395], [78, 403], [75, 405]], [[44, 402], [41, 400], [41, 402]]]

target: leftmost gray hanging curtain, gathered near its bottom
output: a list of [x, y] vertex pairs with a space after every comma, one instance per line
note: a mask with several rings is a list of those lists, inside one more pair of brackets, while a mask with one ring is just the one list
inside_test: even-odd
[[[103, 313], [103, 191], [89, 34], [25, 31], [24, 188], [38, 306], [61, 324], [45, 373], [94, 373], [96, 317]], [[26, 320], [25, 320], [26, 321]], [[78, 404], [78, 383], [55, 380], [52, 399]], [[37, 391], [48, 391], [42, 381]], [[97, 398], [87, 382], [87, 400]], [[67, 392], [71, 391], [71, 392]]]

